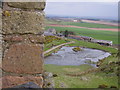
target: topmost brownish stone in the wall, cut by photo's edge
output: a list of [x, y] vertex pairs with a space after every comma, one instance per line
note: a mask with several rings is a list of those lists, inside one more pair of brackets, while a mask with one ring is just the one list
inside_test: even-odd
[[8, 6], [21, 9], [44, 10], [45, 2], [8, 2]]

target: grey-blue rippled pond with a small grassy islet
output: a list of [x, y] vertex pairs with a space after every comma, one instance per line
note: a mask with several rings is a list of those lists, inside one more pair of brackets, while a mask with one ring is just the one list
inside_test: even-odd
[[73, 51], [74, 47], [62, 47], [57, 53], [52, 53], [44, 59], [44, 64], [55, 65], [81, 65], [89, 64], [96, 66], [98, 60], [104, 59], [111, 54], [102, 50], [81, 48], [81, 51]]

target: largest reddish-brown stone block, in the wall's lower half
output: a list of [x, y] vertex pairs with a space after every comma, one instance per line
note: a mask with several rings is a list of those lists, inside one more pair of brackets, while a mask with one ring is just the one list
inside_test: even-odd
[[13, 73], [42, 73], [42, 46], [37, 44], [13, 44], [2, 61], [4, 71]]

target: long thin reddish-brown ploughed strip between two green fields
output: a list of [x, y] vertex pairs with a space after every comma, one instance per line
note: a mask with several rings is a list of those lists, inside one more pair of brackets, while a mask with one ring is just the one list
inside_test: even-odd
[[118, 29], [111, 29], [111, 28], [88, 28], [88, 27], [80, 27], [80, 26], [72, 26], [72, 25], [58, 25], [58, 24], [49, 24], [47, 26], [84, 28], [84, 29], [91, 29], [91, 30], [104, 30], [104, 31], [118, 31]]

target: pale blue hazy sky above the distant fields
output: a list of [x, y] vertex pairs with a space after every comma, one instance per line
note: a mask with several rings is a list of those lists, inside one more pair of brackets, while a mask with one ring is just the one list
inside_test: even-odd
[[[70, 1], [70, 0], [69, 0]], [[85, 1], [85, 0], [84, 0]], [[117, 0], [98, 0], [99, 2], [52, 2], [46, 4], [46, 15], [77, 16], [81, 18], [118, 19]]]

